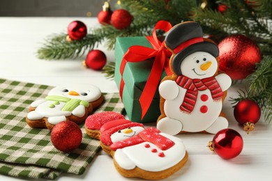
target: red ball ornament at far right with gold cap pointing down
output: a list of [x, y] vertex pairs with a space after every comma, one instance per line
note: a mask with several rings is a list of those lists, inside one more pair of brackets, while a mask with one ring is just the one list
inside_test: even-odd
[[241, 100], [234, 107], [234, 118], [243, 125], [243, 129], [248, 133], [254, 129], [260, 117], [261, 109], [252, 100]]

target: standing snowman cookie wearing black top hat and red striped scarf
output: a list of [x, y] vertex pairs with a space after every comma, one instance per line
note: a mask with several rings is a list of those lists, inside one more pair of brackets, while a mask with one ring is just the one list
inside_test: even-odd
[[225, 91], [232, 79], [218, 74], [218, 46], [203, 38], [197, 22], [177, 24], [167, 32], [165, 46], [172, 52], [172, 76], [159, 86], [161, 116], [157, 128], [167, 134], [209, 132], [227, 128], [221, 116]]

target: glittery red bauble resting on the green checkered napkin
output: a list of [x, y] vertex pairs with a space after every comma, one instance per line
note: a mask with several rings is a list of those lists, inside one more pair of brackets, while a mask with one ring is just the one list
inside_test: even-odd
[[71, 152], [80, 146], [82, 131], [73, 121], [62, 121], [53, 127], [51, 141], [56, 149]]

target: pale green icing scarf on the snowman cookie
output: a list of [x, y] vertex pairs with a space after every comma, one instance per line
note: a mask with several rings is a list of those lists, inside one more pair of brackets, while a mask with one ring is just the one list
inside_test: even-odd
[[83, 105], [84, 107], [89, 107], [89, 102], [86, 102], [86, 100], [71, 99], [71, 98], [62, 97], [59, 95], [48, 95], [47, 97], [45, 97], [45, 100], [52, 100], [56, 102], [66, 102], [65, 106], [61, 109], [61, 111], [72, 112], [79, 105]]

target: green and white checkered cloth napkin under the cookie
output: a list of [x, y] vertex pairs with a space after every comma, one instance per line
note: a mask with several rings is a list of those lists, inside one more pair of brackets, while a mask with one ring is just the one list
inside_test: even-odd
[[[48, 129], [33, 129], [26, 123], [29, 105], [45, 97], [52, 87], [0, 79], [0, 174], [22, 178], [55, 179], [60, 173], [84, 173], [100, 150], [100, 143], [83, 132], [79, 148], [70, 153], [56, 150]], [[105, 102], [95, 112], [123, 111], [117, 93], [105, 93]]]

